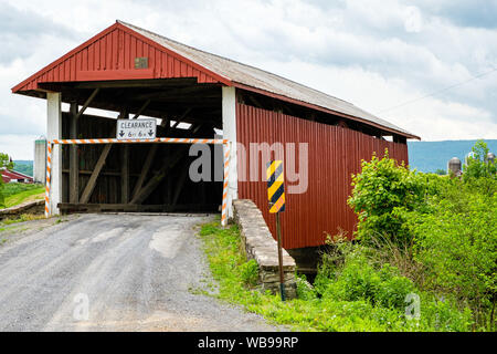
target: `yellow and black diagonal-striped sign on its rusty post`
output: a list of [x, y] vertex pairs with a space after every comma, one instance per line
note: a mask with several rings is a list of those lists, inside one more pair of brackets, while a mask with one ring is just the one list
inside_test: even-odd
[[276, 233], [278, 238], [278, 263], [279, 263], [279, 293], [285, 301], [285, 283], [283, 275], [282, 256], [282, 227], [279, 212], [285, 211], [285, 177], [283, 174], [283, 162], [279, 159], [267, 163], [267, 198], [269, 200], [269, 212], [276, 214]]

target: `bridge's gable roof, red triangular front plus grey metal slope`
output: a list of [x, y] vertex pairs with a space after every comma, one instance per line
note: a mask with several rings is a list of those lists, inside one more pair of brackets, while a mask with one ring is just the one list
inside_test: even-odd
[[[136, 56], [149, 56], [149, 69], [136, 70]], [[169, 77], [195, 77], [199, 83], [221, 83], [254, 91], [409, 138], [419, 138], [343, 100], [123, 21], [116, 21], [108, 29], [24, 80], [13, 87], [12, 92], [38, 90], [38, 84], [45, 82]]]

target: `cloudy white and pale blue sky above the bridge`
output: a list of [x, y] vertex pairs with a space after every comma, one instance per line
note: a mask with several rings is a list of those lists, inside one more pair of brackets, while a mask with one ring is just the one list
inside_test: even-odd
[[497, 0], [0, 0], [0, 152], [45, 102], [11, 87], [116, 19], [277, 73], [424, 140], [497, 138]]

